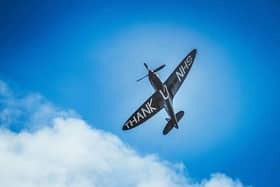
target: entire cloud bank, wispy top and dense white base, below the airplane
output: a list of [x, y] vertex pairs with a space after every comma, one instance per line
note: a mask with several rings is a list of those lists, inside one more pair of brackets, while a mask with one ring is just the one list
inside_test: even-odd
[[[0, 186], [243, 187], [213, 174], [193, 181], [183, 164], [142, 156], [117, 136], [39, 94], [18, 97], [0, 81]], [[18, 132], [11, 129], [17, 124]]]

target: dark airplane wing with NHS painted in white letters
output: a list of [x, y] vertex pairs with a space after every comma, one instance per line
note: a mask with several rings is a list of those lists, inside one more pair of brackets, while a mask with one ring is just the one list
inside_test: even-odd
[[187, 77], [192, 64], [194, 62], [196, 55], [196, 49], [192, 50], [183, 61], [176, 67], [176, 69], [172, 72], [172, 74], [165, 81], [165, 85], [167, 86], [172, 99], [175, 94], [183, 84], [185, 78]]

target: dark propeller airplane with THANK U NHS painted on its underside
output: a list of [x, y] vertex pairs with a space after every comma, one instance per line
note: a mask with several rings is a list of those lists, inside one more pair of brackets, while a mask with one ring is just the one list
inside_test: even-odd
[[181, 61], [164, 83], [162, 83], [156, 75], [156, 72], [164, 68], [165, 65], [161, 65], [158, 68], [151, 70], [148, 65], [144, 63], [148, 74], [137, 81], [141, 81], [142, 79], [148, 77], [155, 92], [130, 116], [130, 118], [124, 123], [122, 130], [129, 130], [137, 127], [163, 108], [169, 115], [169, 118], [166, 118], [167, 125], [163, 129], [163, 135], [167, 135], [173, 127], [176, 129], [179, 128], [178, 122], [182, 119], [184, 111], [179, 111], [175, 114], [173, 109], [173, 98], [192, 67], [196, 51], [196, 49], [193, 49]]

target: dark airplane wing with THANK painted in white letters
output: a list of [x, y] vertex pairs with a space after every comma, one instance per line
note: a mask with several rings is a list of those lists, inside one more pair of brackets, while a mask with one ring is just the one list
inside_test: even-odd
[[132, 116], [125, 122], [122, 129], [129, 130], [140, 125], [159, 112], [163, 107], [164, 100], [159, 91], [156, 91], [132, 114]]

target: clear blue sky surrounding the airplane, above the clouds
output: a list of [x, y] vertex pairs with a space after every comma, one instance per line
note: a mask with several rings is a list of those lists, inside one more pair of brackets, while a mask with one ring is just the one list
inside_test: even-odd
[[[277, 1], [0, 2], [0, 77], [77, 111], [141, 154], [183, 162], [202, 179], [222, 172], [279, 186]], [[166, 64], [165, 80], [193, 48], [178, 92], [179, 130], [164, 137], [165, 112], [121, 127], [153, 93], [143, 63]], [[20, 130], [20, 127], [19, 129]]]

